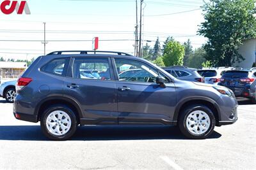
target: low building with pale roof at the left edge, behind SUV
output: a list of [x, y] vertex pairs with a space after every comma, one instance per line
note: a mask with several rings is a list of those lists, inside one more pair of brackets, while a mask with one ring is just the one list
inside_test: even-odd
[[16, 80], [27, 69], [26, 62], [0, 62], [0, 81]]

